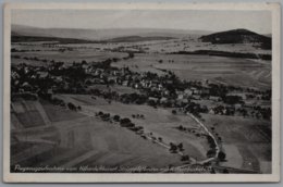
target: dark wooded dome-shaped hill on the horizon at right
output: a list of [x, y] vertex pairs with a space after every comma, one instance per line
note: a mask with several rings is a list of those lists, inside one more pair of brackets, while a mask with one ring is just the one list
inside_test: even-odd
[[247, 29], [233, 29], [201, 36], [204, 42], [211, 43], [254, 43], [258, 42], [263, 49], [271, 49], [271, 38]]

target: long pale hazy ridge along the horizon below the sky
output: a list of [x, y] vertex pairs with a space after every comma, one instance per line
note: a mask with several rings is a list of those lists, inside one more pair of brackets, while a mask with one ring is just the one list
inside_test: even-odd
[[[75, 38], [84, 40], [108, 40], [120, 37], [172, 37], [182, 38], [188, 35], [208, 35], [204, 30], [182, 30], [161, 28], [106, 28], [106, 29], [81, 29], [81, 28], [38, 28], [24, 25], [12, 25], [12, 32], [22, 36], [40, 36], [57, 38]], [[149, 38], [152, 39], [152, 38]]]

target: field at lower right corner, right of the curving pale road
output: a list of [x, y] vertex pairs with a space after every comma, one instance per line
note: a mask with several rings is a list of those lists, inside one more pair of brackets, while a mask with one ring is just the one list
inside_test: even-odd
[[[204, 114], [208, 127], [214, 127], [222, 138], [226, 152], [225, 166], [271, 172], [271, 124], [270, 122], [241, 116]], [[248, 146], [247, 146], [248, 145]]]

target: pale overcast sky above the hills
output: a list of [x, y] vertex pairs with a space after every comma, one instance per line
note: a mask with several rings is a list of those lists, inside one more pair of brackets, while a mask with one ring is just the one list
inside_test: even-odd
[[47, 28], [171, 28], [271, 33], [269, 11], [13, 10], [12, 24]]

